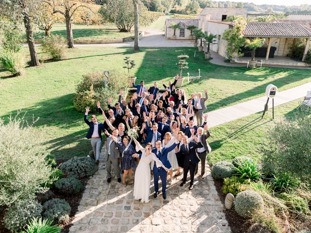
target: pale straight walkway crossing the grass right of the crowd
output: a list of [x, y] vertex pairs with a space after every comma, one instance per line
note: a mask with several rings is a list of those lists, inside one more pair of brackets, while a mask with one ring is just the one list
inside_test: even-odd
[[[276, 97], [274, 98], [274, 106], [303, 98], [306, 96], [307, 90], [309, 89], [311, 89], [311, 83], [306, 83], [301, 86], [288, 89], [286, 91], [278, 92], [276, 94]], [[255, 100], [249, 100], [229, 107], [207, 112], [208, 127], [214, 127], [232, 120], [236, 120], [244, 116], [249, 116], [258, 112], [262, 112], [266, 101], [267, 97], [264, 96]], [[268, 108], [272, 108], [271, 99], [269, 100]], [[208, 109], [208, 100], [207, 100], [207, 109]], [[272, 114], [272, 112], [268, 111], [268, 114]]]

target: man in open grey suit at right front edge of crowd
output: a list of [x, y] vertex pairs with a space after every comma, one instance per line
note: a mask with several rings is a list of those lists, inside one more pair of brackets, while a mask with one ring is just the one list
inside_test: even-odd
[[[207, 142], [207, 138], [210, 136], [210, 133], [208, 131], [207, 125], [204, 125], [204, 129], [206, 130], [206, 133], [203, 133], [203, 128], [199, 127], [197, 129], [197, 134], [196, 134], [197, 138], [200, 140], [201, 144], [203, 145], [202, 148], [197, 148], [196, 149], [196, 152], [197, 152], [197, 154], [198, 154], [198, 156], [199, 156], [199, 158], [201, 160], [201, 174], [200, 174], [200, 178], [202, 180], [205, 179], [204, 174], [205, 174], [205, 162], [206, 162], [207, 154], [211, 151], [211, 148], [210, 148], [210, 146], [208, 145], [208, 142]], [[191, 137], [191, 140], [193, 140], [193, 135]], [[198, 173], [198, 165], [195, 168], [195, 173], [194, 174], [197, 174], [197, 173]]]

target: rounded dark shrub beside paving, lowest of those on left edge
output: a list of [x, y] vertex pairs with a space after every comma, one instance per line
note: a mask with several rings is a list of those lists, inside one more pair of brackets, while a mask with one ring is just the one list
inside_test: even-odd
[[54, 224], [69, 220], [71, 208], [66, 200], [54, 198], [43, 205], [42, 216], [51, 219]]

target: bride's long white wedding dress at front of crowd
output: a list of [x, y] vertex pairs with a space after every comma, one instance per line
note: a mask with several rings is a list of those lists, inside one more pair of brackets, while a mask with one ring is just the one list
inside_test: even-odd
[[141, 202], [148, 202], [151, 181], [150, 163], [152, 160], [154, 160], [157, 167], [162, 166], [163, 164], [154, 153], [146, 156], [146, 149], [144, 149], [142, 146], [136, 146], [136, 151], [139, 150], [142, 151], [142, 155], [135, 172], [134, 199], [141, 199]]

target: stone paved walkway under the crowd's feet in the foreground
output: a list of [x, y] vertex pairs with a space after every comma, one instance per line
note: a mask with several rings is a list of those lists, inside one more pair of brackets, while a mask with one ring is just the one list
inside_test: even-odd
[[179, 186], [182, 176], [173, 179], [166, 200], [161, 193], [153, 198], [152, 180], [150, 201], [141, 203], [133, 199], [134, 185], [123, 187], [116, 179], [108, 184], [104, 163], [100, 163], [86, 185], [69, 233], [230, 233], [208, 165], [206, 175], [205, 180], [195, 178], [191, 191], [189, 181]]

